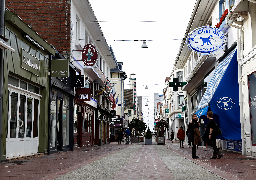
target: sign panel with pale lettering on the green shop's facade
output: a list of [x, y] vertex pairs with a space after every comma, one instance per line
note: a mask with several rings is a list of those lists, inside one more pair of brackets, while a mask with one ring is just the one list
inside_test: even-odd
[[21, 48], [21, 67], [27, 71], [30, 71], [34, 75], [39, 76], [39, 59], [25, 51], [23, 48]]

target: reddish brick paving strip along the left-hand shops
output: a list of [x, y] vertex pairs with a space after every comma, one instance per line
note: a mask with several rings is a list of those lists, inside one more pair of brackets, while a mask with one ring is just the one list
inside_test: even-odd
[[124, 144], [113, 143], [2, 162], [0, 163], [0, 179], [54, 179], [125, 147], [127, 146]]

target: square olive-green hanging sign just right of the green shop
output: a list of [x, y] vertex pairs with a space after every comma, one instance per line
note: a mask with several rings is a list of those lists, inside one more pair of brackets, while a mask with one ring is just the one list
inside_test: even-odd
[[51, 61], [51, 76], [52, 77], [68, 77], [69, 76], [69, 61], [68, 59], [54, 59]]

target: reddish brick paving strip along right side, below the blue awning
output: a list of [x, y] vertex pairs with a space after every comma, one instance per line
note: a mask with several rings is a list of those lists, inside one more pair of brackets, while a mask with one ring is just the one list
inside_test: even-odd
[[233, 151], [222, 151], [223, 157], [221, 159], [210, 159], [213, 150], [199, 147], [197, 149], [199, 159], [192, 159], [192, 149], [187, 145], [184, 146], [185, 148], [180, 148], [179, 143], [171, 143], [171, 141], [167, 140], [166, 146], [227, 180], [256, 179], [255, 158]]

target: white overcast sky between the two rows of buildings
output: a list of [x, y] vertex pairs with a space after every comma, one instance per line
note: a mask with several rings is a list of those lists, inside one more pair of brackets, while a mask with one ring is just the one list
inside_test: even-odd
[[[124, 63], [123, 71], [128, 78], [136, 74], [137, 95], [162, 94], [181, 44], [173, 39], [184, 37], [196, 0], [89, 1], [117, 61]], [[145, 49], [142, 41], [133, 40], [152, 41], [146, 42]]]

